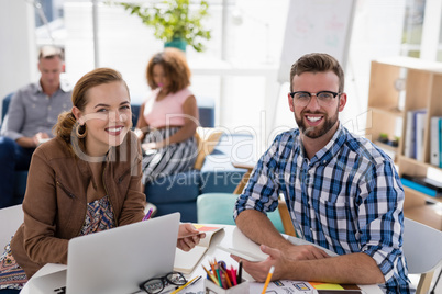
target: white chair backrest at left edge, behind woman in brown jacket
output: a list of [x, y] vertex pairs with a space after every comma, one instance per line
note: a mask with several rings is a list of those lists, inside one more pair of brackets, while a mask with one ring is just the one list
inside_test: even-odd
[[0, 248], [4, 248], [22, 223], [21, 204], [0, 210]]

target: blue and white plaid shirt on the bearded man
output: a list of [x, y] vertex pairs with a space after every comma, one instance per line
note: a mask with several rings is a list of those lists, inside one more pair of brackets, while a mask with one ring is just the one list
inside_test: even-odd
[[244, 210], [276, 210], [279, 194], [300, 238], [338, 255], [367, 253], [388, 293], [410, 293], [401, 248], [404, 190], [391, 159], [369, 140], [340, 124], [309, 160], [299, 129], [278, 135], [253, 170], [234, 218]]

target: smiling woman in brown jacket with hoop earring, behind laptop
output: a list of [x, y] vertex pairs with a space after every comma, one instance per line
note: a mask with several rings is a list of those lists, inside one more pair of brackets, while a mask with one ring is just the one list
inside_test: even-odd
[[[59, 115], [56, 138], [32, 157], [24, 223], [1, 257], [0, 289], [21, 289], [45, 263], [66, 264], [74, 237], [144, 217], [141, 147], [130, 131], [131, 101], [121, 75], [109, 68], [86, 74], [74, 88], [73, 105]], [[188, 251], [203, 237], [180, 224], [177, 247]]]

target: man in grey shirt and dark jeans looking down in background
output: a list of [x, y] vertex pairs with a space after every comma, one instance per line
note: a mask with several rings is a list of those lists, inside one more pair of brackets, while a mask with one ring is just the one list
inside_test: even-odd
[[41, 142], [51, 137], [63, 111], [71, 108], [71, 91], [60, 83], [64, 57], [60, 48], [44, 46], [38, 53], [40, 81], [19, 89], [12, 97], [0, 136], [0, 208], [13, 199], [15, 170], [27, 170]]

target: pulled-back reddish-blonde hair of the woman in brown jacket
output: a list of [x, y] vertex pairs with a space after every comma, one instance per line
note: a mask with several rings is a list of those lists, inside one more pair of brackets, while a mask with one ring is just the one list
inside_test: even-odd
[[[89, 102], [89, 89], [114, 81], [122, 82], [128, 89], [129, 94], [128, 84], [125, 83], [123, 77], [119, 71], [111, 68], [97, 68], [92, 71], [89, 71], [88, 74], [82, 76], [74, 87], [71, 97], [73, 106], [76, 106], [80, 111], [85, 111], [86, 104]], [[62, 114], [59, 114], [58, 122], [54, 126], [54, 133], [67, 143], [73, 152], [74, 150], [71, 146], [71, 135], [75, 134], [76, 127], [79, 127], [79, 125], [71, 111], [63, 112]], [[79, 138], [79, 142], [81, 143], [82, 138]]]

